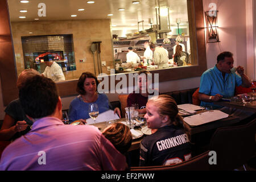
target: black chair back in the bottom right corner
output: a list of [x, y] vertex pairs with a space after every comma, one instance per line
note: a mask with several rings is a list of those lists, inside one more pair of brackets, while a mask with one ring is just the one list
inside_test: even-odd
[[215, 131], [209, 150], [216, 151], [212, 170], [233, 170], [246, 164], [255, 153], [256, 119], [246, 125], [222, 127]]

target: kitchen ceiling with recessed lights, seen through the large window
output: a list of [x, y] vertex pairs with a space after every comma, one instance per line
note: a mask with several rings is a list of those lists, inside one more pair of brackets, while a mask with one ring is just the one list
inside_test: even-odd
[[[187, 0], [140, 0], [139, 4], [133, 4], [135, 0], [94, 0], [88, 4], [87, 0], [28, 0], [29, 3], [20, 3], [19, 0], [8, 0], [11, 22], [46, 21], [46, 20], [81, 20], [81, 19], [111, 19], [113, 30], [123, 27], [137, 29], [137, 22], [144, 20], [144, 28], [147, 28], [148, 18], [153, 18], [156, 24], [155, 7], [167, 6], [170, 14], [171, 26], [177, 26], [176, 18], [180, 18], [180, 26], [187, 26]], [[39, 17], [39, 3], [46, 4], [46, 17]], [[125, 8], [119, 11], [119, 8]], [[78, 11], [78, 9], [85, 9]], [[27, 13], [20, 13], [27, 10]], [[113, 16], [108, 16], [113, 14]], [[77, 15], [71, 17], [71, 15]], [[26, 16], [20, 19], [19, 16]], [[35, 20], [38, 18], [39, 20]]]

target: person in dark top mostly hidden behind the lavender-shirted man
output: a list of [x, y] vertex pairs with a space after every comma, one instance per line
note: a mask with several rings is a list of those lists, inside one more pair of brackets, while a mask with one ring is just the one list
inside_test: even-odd
[[[18, 89], [22, 88], [22, 85], [26, 82], [27, 78], [35, 75], [40, 75], [35, 69], [25, 69], [20, 73], [16, 82]], [[0, 140], [15, 140], [30, 131], [30, 126], [33, 122], [26, 117], [19, 99], [11, 101], [5, 109], [5, 113], [3, 125], [0, 129]]]

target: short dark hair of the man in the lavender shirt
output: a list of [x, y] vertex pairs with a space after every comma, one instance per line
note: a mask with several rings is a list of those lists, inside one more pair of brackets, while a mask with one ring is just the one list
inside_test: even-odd
[[55, 82], [40, 75], [27, 78], [19, 90], [19, 100], [24, 112], [34, 119], [53, 114], [58, 98]]

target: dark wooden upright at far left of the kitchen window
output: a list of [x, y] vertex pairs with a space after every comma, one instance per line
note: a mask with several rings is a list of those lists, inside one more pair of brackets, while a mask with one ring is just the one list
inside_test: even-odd
[[3, 104], [18, 98], [16, 65], [7, 0], [0, 0], [0, 77]]

